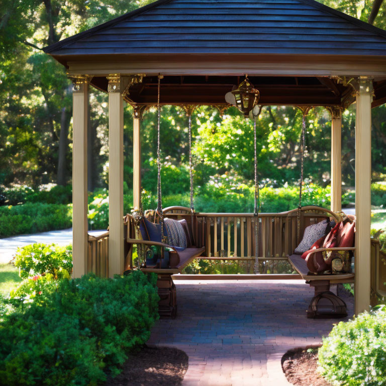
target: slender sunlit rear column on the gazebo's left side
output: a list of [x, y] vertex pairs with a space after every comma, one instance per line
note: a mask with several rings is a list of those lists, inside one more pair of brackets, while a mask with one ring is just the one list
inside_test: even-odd
[[141, 119], [145, 106], [133, 106], [133, 208], [141, 207]]

